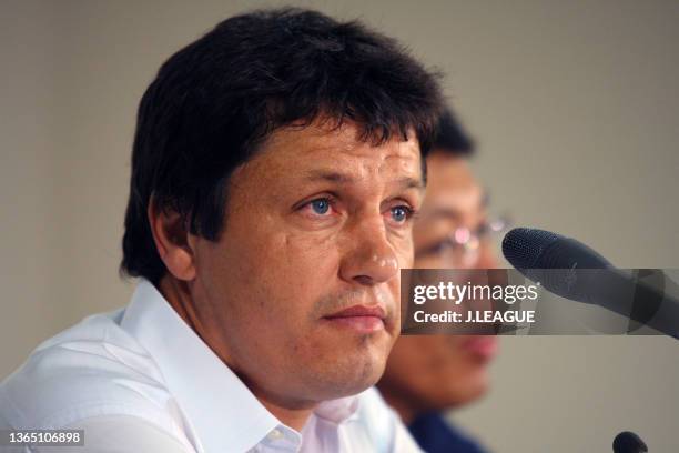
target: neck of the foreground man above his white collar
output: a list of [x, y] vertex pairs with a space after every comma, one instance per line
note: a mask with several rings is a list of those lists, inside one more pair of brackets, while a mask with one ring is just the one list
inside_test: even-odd
[[230, 355], [226, 353], [225, 345], [221, 344], [216, 339], [220, 335], [210, 335], [210, 329], [205, 326], [197, 313], [197, 308], [193, 302], [189, 283], [176, 280], [171, 275], [163, 276], [159, 284], [158, 290], [165, 298], [170, 306], [180, 315], [182, 320], [195, 332], [195, 334], [203, 340], [203, 342], [220, 358], [220, 360], [231, 369], [247, 389], [255, 395], [255, 397], [262, 403], [268, 412], [271, 412], [276, 419], [278, 419], [285, 425], [296, 431], [302, 431], [311, 416], [316, 403], [312, 402], [290, 402], [283, 401], [271, 392], [266, 392], [264, 389], [256, 385], [254, 382], [247, 379], [242, 372], [237, 370], [230, 360]]

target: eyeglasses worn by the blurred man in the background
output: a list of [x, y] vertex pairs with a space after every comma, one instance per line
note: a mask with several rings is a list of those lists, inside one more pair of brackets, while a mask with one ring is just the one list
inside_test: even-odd
[[511, 226], [509, 215], [500, 215], [483, 222], [472, 230], [458, 226], [443, 240], [416, 252], [416, 258], [436, 256], [452, 265], [469, 266], [477, 262], [480, 246]]

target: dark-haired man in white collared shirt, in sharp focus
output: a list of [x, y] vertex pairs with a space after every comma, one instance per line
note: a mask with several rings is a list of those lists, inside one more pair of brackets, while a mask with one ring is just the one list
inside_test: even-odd
[[371, 386], [440, 105], [395, 41], [312, 11], [176, 52], [139, 108], [132, 301], [40, 345], [0, 427], [84, 429], [79, 452], [416, 450]]

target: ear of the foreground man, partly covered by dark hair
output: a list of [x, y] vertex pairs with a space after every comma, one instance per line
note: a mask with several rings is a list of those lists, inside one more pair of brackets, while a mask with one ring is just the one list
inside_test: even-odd
[[155, 249], [174, 278], [195, 279], [195, 238], [188, 231], [181, 215], [170, 209], [159, 209], [151, 198], [146, 211]]

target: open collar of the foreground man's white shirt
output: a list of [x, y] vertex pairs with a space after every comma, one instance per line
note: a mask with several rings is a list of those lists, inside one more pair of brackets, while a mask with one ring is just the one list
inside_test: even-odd
[[[148, 280], [121, 328], [149, 351], [207, 452], [246, 451], [281, 425]], [[323, 402], [314, 414], [340, 424], [357, 416], [357, 396]]]

